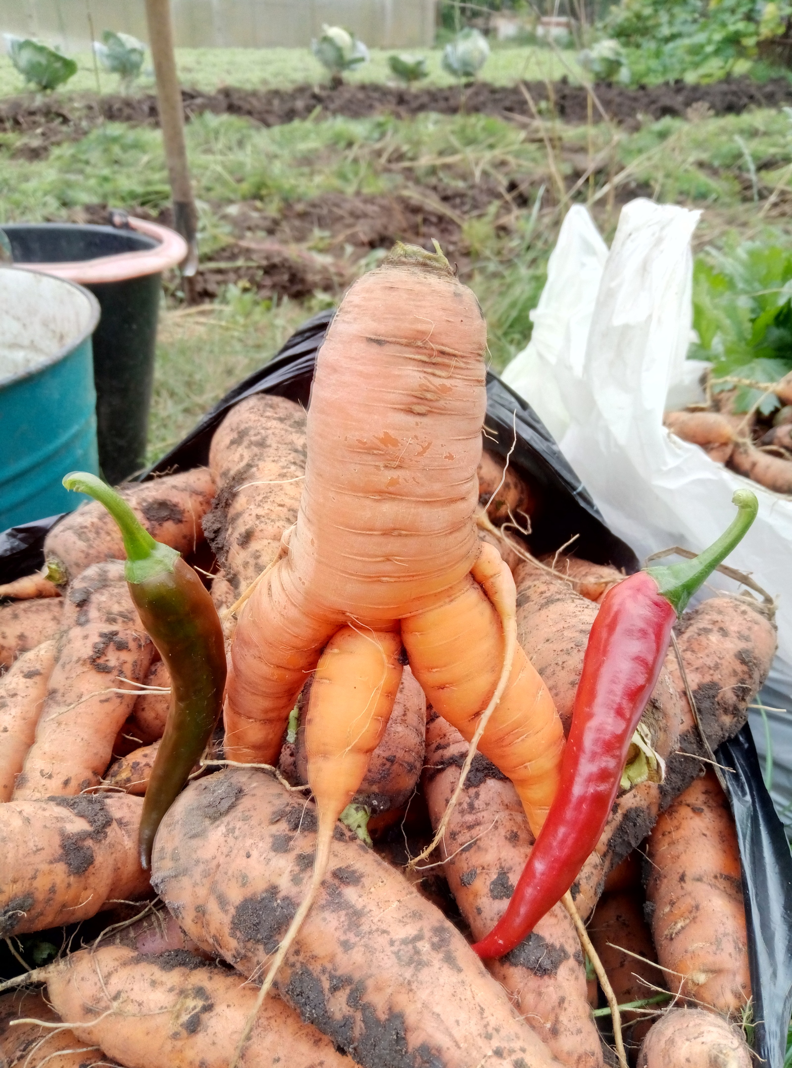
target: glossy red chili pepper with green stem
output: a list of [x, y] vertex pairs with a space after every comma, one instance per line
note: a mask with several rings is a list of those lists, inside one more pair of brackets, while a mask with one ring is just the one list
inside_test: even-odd
[[502, 957], [528, 934], [577, 878], [604, 830], [628, 750], [693, 594], [753, 523], [754, 493], [738, 490], [738, 516], [695, 560], [638, 571], [603, 597], [572, 706], [558, 792], [508, 908], [473, 948]]

